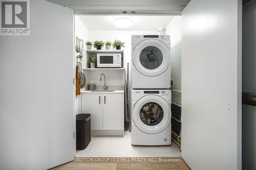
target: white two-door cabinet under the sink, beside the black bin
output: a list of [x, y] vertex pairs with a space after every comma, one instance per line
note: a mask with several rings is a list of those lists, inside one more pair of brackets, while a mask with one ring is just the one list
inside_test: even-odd
[[124, 94], [82, 93], [81, 112], [91, 114], [91, 130], [110, 130], [104, 131], [105, 135], [117, 135], [112, 132], [119, 130], [123, 134]]

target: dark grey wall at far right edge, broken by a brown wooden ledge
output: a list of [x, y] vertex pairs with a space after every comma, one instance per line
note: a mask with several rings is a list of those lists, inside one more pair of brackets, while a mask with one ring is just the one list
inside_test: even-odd
[[[256, 93], [256, 1], [243, 6], [243, 92]], [[243, 105], [243, 169], [256, 169], [256, 106]]]

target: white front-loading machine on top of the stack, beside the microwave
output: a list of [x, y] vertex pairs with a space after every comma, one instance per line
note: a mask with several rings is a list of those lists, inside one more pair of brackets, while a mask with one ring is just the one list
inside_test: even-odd
[[132, 88], [170, 88], [170, 36], [132, 36]]

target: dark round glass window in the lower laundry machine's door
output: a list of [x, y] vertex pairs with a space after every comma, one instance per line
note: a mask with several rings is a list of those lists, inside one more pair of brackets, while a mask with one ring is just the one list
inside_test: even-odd
[[163, 119], [163, 109], [162, 107], [155, 103], [146, 103], [140, 109], [140, 119], [148, 126], [158, 125]]

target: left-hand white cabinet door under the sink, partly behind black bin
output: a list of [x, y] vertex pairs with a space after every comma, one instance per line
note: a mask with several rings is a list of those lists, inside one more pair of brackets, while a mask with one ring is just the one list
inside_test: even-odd
[[102, 94], [81, 94], [82, 113], [91, 114], [91, 130], [102, 130]]

